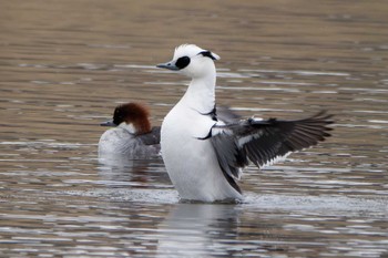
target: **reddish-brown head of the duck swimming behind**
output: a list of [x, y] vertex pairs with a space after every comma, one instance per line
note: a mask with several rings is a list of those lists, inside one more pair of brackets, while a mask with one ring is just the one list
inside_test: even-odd
[[151, 131], [149, 116], [150, 112], [145, 105], [136, 102], [126, 103], [115, 107], [113, 123], [115, 125], [120, 125], [123, 122], [132, 124], [136, 134], [145, 134]]

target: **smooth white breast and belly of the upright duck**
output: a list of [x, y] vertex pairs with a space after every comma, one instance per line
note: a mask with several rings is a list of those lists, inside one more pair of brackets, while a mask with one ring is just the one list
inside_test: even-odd
[[215, 121], [178, 103], [164, 118], [162, 156], [183, 199], [214, 202], [242, 198], [224, 177], [213, 145], [205, 138]]

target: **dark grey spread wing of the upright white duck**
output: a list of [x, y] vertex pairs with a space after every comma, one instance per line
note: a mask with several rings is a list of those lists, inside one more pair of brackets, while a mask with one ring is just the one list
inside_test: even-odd
[[211, 141], [219, 166], [229, 179], [239, 178], [241, 168], [253, 162], [263, 167], [289, 153], [318, 144], [330, 136], [327, 127], [331, 115], [320, 112], [296, 121], [248, 118], [229, 124], [216, 124]]

